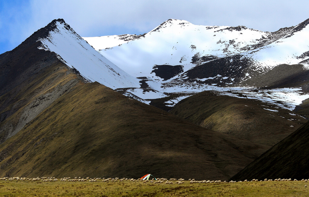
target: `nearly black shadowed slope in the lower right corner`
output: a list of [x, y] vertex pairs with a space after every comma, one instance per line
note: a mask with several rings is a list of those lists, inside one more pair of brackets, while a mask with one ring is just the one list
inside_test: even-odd
[[233, 176], [243, 179], [308, 179], [309, 122]]

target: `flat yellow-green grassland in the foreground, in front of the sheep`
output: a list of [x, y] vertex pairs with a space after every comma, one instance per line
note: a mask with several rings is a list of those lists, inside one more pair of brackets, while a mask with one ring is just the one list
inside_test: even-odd
[[[175, 181], [174, 181], [175, 182]], [[0, 196], [308, 196], [304, 181], [154, 184], [143, 182], [0, 181]]]

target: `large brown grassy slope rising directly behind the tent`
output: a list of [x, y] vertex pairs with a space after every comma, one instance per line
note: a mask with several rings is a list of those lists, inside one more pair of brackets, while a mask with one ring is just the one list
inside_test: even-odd
[[268, 146], [213, 132], [99, 83], [77, 86], [0, 145], [0, 176], [228, 179]]

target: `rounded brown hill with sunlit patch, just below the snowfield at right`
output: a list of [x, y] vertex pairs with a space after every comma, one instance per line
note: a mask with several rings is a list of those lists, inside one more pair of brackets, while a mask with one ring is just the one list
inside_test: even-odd
[[215, 91], [190, 96], [171, 113], [205, 128], [269, 146], [307, 122], [303, 117], [291, 115], [289, 110], [258, 100], [218, 95]]

